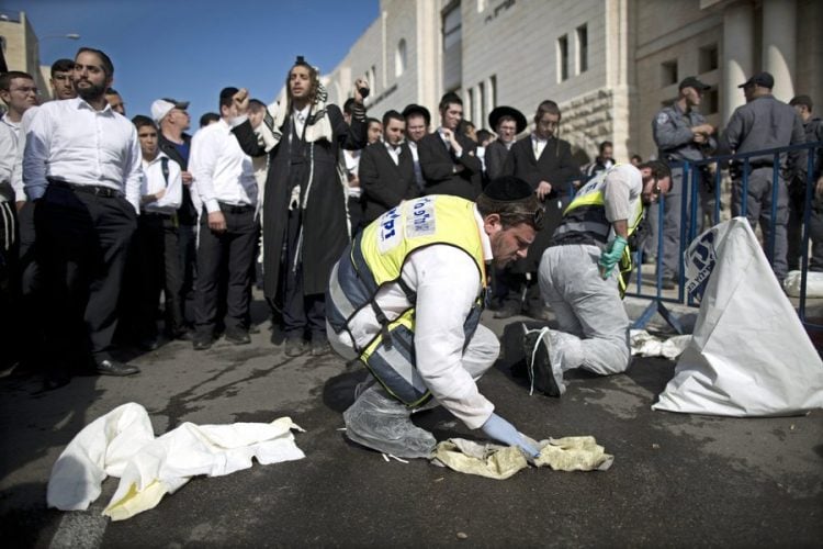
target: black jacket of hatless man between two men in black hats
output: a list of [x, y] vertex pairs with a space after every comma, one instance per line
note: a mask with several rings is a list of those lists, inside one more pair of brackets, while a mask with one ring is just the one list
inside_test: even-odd
[[[475, 156], [477, 145], [458, 134], [458, 143], [463, 148], [460, 158], [446, 147], [440, 134], [435, 132], [417, 144], [420, 170], [426, 180], [424, 194], [453, 194], [475, 200], [482, 191], [483, 165]], [[454, 169], [462, 167], [456, 173]]]

